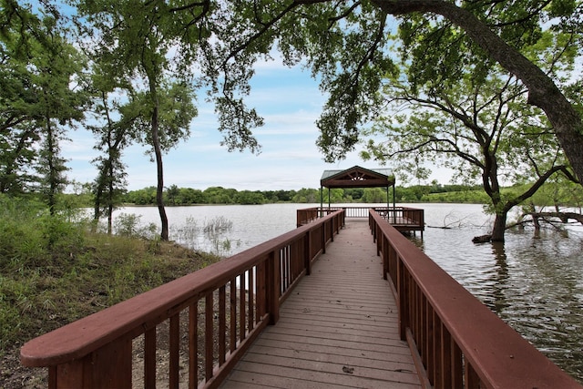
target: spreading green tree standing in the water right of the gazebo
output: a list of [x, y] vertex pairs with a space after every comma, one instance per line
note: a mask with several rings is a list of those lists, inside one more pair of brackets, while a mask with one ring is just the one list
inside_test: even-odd
[[[552, 59], [549, 71], [571, 67], [566, 42], [568, 38], [560, 36], [557, 42], [543, 39], [547, 48], [537, 52]], [[390, 78], [384, 89], [389, 116], [369, 132], [381, 140], [369, 141], [364, 158], [390, 160], [405, 174], [430, 161], [455, 169], [466, 183], [480, 178], [496, 215], [492, 241], [504, 241], [508, 211], [533, 196], [547, 179], [561, 172], [577, 180], [547, 118], [527, 106], [527, 91], [516, 77], [496, 65], [467, 65], [460, 66], [455, 79], [442, 75], [420, 85], [406, 81], [405, 74], [412, 73], [405, 62], [404, 74]], [[528, 185], [521, 193], [505, 195], [505, 181]]]

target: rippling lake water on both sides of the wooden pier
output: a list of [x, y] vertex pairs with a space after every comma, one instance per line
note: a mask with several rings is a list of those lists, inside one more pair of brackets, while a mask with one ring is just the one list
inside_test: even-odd
[[[316, 205], [169, 207], [170, 240], [198, 250], [233, 254], [295, 229], [296, 210]], [[481, 206], [409, 206], [425, 210], [424, 239], [417, 234], [414, 243], [583, 383], [583, 229], [570, 227], [568, 237], [543, 231], [539, 238], [532, 230], [510, 230], [504, 245], [474, 244], [472, 238], [486, 234], [492, 224]], [[117, 210], [114, 220], [120, 213], [133, 213], [143, 224], [159, 225], [156, 208]], [[221, 224], [230, 228], [204, 232], [205, 226]]]

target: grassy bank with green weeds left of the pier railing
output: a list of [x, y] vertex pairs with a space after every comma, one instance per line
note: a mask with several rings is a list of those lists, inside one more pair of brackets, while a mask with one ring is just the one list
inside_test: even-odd
[[71, 215], [0, 198], [0, 387], [44, 387], [18, 361], [26, 341], [220, 257], [171, 242], [91, 233]]

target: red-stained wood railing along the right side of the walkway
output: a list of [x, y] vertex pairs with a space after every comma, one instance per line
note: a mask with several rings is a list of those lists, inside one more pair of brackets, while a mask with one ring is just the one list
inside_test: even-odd
[[581, 388], [376, 211], [369, 223], [401, 338], [439, 388]]

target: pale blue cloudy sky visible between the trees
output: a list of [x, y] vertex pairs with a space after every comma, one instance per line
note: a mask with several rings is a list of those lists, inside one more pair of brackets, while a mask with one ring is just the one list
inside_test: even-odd
[[[349, 169], [355, 165], [365, 169], [391, 168], [375, 161], [363, 161], [356, 150], [337, 163], [325, 163], [315, 142], [319, 130], [315, 121], [322, 112], [325, 97], [318, 82], [301, 67], [285, 67], [277, 60], [257, 65], [251, 81], [251, 95], [246, 99], [264, 118], [264, 125], [253, 133], [261, 144], [261, 154], [249, 150], [229, 152], [220, 146], [214, 107], [200, 97], [199, 115], [190, 124], [190, 137], [163, 156], [164, 186], [207, 189], [220, 186], [237, 190], [279, 190], [320, 188], [325, 169]], [[96, 139], [81, 126], [69, 134], [62, 146], [68, 160], [68, 179], [91, 182], [97, 169], [91, 160], [98, 152]], [[145, 155], [147, 148], [133, 145], [123, 154], [128, 173], [128, 190], [157, 185], [156, 165]], [[431, 179], [447, 183], [445, 170]], [[431, 180], [430, 179], [430, 180]], [[397, 182], [397, 185], [399, 183]]]

